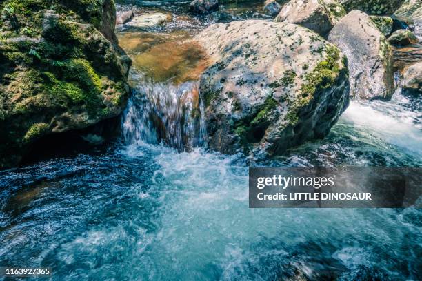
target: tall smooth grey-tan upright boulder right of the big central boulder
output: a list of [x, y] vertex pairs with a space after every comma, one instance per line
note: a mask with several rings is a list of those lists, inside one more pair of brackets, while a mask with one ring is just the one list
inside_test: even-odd
[[348, 58], [352, 97], [391, 98], [394, 93], [392, 50], [368, 14], [350, 12], [334, 26], [328, 41]]

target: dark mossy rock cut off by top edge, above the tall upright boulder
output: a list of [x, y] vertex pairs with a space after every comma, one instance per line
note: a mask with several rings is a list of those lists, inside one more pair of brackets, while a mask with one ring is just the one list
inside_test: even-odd
[[392, 14], [401, 6], [403, 1], [404, 0], [339, 0], [348, 12], [351, 10], [361, 10], [368, 14]]

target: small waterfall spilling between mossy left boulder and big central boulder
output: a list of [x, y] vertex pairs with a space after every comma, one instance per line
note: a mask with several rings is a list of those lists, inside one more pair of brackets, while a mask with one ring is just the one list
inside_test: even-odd
[[159, 144], [190, 151], [205, 145], [205, 119], [199, 83], [154, 83], [134, 74], [128, 108], [123, 115], [123, 138], [128, 144]]

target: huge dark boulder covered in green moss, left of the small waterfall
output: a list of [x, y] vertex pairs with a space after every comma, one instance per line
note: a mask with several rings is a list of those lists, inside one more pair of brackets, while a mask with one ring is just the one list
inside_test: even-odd
[[128, 98], [113, 1], [16, 3], [0, 4], [0, 167], [43, 136], [119, 115]]

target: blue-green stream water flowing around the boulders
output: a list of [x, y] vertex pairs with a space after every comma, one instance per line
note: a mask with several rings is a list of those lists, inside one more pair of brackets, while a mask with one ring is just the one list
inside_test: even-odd
[[[121, 30], [135, 67], [118, 141], [0, 171], [0, 264], [52, 280], [422, 280], [420, 209], [248, 208], [245, 158], [203, 142], [205, 59], [183, 64], [201, 27], [181, 22]], [[421, 167], [421, 107], [400, 91], [352, 101], [324, 140], [256, 164]]]

